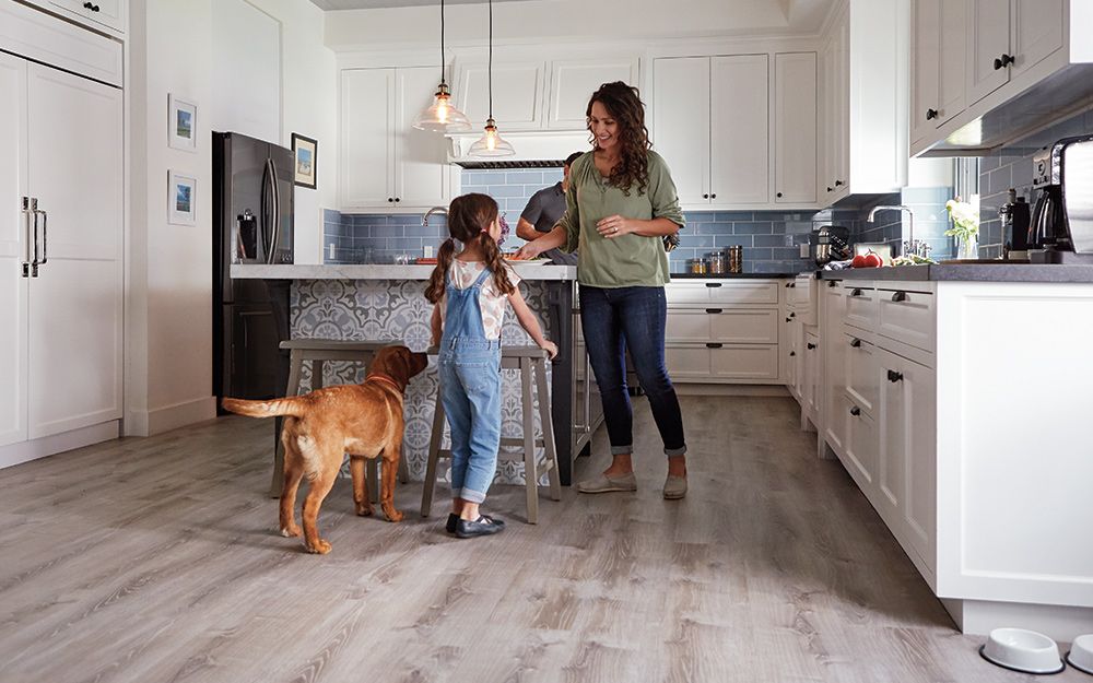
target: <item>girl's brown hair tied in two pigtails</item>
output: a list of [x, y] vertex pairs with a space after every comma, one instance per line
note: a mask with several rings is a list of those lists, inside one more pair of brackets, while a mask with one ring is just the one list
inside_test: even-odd
[[451, 266], [451, 260], [456, 256], [456, 243], [463, 245], [474, 244], [478, 240], [478, 248], [485, 259], [485, 267], [493, 273], [493, 281], [497, 291], [508, 296], [516, 291], [508, 280], [508, 271], [501, 258], [501, 249], [497, 240], [490, 235], [490, 225], [497, 220], [497, 202], [489, 195], [471, 192], [451, 200], [448, 207], [448, 237], [440, 245], [440, 250], [436, 255], [436, 268], [428, 279], [428, 286], [425, 288], [425, 298], [435, 304], [444, 296], [445, 275]]

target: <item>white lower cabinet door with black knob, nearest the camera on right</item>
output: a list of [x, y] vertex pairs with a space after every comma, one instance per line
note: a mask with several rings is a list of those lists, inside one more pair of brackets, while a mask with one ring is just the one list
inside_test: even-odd
[[[937, 519], [936, 387], [933, 370], [880, 355], [879, 511], [901, 541], [932, 568]], [[910, 549], [906, 549], [910, 552]]]

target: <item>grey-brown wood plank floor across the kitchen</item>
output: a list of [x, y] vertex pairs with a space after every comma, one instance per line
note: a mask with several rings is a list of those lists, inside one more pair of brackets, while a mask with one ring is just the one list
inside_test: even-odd
[[[496, 537], [327, 498], [277, 533], [269, 422], [224, 417], [0, 471], [0, 681], [1031, 681], [983, 661], [779, 398], [683, 397], [690, 493], [636, 405], [636, 494], [497, 487]], [[607, 439], [577, 463], [603, 467]], [[378, 508], [377, 508], [378, 511]], [[1086, 681], [1073, 670], [1054, 681]]]

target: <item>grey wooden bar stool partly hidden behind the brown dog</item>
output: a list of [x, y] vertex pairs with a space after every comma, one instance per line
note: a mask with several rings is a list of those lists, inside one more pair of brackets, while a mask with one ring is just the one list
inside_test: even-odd
[[[327, 361], [345, 361], [351, 363], [363, 363], [365, 372], [372, 360], [376, 357], [384, 346], [400, 344], [398, 341], [343, 341], [336, 339], [291, 339], [281, 342], [281, 349], [290, 351], [289, 356], [289, 386], [285, 388], [285, 396], [296, 396], [299, 393], [299, 379], [303, 374], [304, 363], [312, 363], [312, 390], [322, 388], [322, 367]], [[280, 427], [280, 422], [278, 423]], [[281, 445], [281, 431], [278, 428], [277, 444], [273, 449], [273, 482], [270, 484], [270, 496], [277, 498], [281, 495], [284, 486], [284, 450]], [[368, 497], [373, 503], [379, 499], [379, 460], [368, 458], [365, 460], [368, 468]], [[410, 481], [410, 470], [407, 467], [406, 456], [399, 459], [399, 481], [403, 484]]]

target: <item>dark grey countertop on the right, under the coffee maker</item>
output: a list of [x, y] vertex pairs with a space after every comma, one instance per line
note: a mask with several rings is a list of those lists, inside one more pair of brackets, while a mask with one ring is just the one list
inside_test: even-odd
[[897, 280], [902, 282], [1056, 282], [1093, 283], [1093, 266], [1043, 263], [942, 263], [822, 270], [821, 280]]

